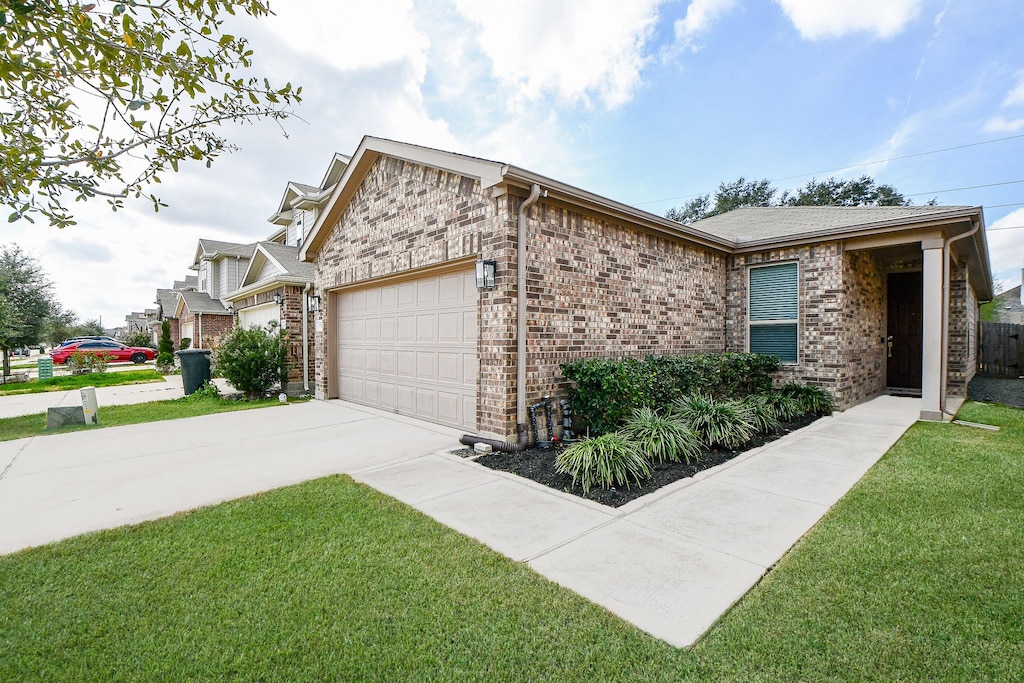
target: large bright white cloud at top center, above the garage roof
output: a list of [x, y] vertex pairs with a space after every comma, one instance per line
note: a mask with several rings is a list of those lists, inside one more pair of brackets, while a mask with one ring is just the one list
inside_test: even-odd
[[548, 93], [590, 104], [596, 95], [614, 109], [632, 99], [647, 61], [645, 48], [660, 0], [455, 0], [476, 24], [481, 52], [497, 79], [520, 97]]

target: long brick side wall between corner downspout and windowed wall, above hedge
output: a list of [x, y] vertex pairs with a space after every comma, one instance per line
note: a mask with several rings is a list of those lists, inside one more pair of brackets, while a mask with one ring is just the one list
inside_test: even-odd
[[568, 360], [724, 350], [723, 254], [543, 200], [527, 245], [527, 402]]

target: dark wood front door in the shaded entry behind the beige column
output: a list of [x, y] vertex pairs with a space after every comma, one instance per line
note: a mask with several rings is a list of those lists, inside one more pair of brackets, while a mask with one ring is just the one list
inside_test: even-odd
[[889, 273], [886, 385], [921, 390], [922, 275]]

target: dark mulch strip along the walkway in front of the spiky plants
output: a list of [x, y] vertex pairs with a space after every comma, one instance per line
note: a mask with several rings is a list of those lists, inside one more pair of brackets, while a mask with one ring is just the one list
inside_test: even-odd
[[561, 447], [552, 449], [529, 449], [518, 454], [493, 453], [481, 456], [476, 462], [489, 467], [493, 470], [511, 472], [527, 479], [532, 479], [545, 486], [551, 486], [558, 490], [563, 490], [580, 498], [617, 508], [626, 505], [630, 501], [646, 496], [657, 490], [673, 481], [691, 477], [697, 472], [711, 469], [716, 465], [728, 462], [736, 456], [764, 445], [769, 441], [785, 436], [792, 431], [806, 427], [817, 420], [817, 416], [805, 416], [792, 422], [782, 424], [782, 427], [770, 434], [759, 434], [749, 443], [736, 450], [712, 449], [706, 450], [700, 457], [689, 464], [687, 463], [653, 463], [651, 464], [651, 476], [639, 486], [630, 488], [591, 488], [589, 493], [584, 493], [583, 487], [572, 485], [572, 477], [555, 470], [555, 456]]

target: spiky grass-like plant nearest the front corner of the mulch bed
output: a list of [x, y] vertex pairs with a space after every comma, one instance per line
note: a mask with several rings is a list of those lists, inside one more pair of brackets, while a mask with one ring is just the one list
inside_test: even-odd
[[589, 492], [594, 484], [626, 486], [650, 476], [650, 465], [636, 445], [618, 432], [573, 443], [555, 457], [555, 468]]

